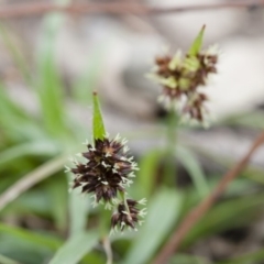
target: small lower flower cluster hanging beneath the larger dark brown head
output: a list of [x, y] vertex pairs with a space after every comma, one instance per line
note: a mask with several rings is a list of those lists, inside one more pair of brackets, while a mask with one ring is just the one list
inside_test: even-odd
[[140, 210], [138, 206], [145, 204], [146, 199], [142, 199], [140, 201], [127, 199], [125, 202], [120, 202], [118, 205], [117, 212], [114, 212], [111, 218], [112, 230], [117, 230], [119, 227], [120, 230], [123, 231], [127, 227], [136, 231], [135, 226], [141, 226], [143, 222], [143, 220], [140, 220], [140, 218], [144, 218], [146, 215], [146, 208]]

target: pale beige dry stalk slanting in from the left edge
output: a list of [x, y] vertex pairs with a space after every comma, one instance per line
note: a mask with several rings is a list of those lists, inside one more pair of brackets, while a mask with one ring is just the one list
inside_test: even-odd
[[0, 210], [35, 184], [58, 172], [64, 166], [67, 157], [64, 155], [48, 161], [13, 184], [9, 189], [1, 194]]

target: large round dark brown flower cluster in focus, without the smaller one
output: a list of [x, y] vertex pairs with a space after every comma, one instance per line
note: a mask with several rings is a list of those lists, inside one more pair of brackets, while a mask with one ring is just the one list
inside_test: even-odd
[[118, 191], [124, 193], [138, 169], [133, 157], [128, 157], [125, 141], [105, 138], [95, 140], [95, 145], [87, 144], [88, 151], [81, 153], [86, 162], [76, 162], [72, 168], [75, 174], [73, 188], [81, 187], [81, 193], [95, 195], [95, 205], [101, 199], [105, 202], [112, 201]]

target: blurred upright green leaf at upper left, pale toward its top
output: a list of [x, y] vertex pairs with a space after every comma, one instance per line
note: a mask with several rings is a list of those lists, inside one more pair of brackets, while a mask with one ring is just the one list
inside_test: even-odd
[[57, 32], [64, 21], [63, 14], [53, 13], [44, 19], [44, 34], [37, 54], [37, 96], [46, 130], [62, 138], [65, 134], [64, 87], [55, 62]]

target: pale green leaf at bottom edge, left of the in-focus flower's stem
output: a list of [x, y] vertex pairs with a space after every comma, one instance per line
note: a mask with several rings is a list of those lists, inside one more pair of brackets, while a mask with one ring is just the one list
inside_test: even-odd
[[78, 263], [98, 243], [97, 232], [79, 233], [70, 238], [55, 254], [50, 264]]

